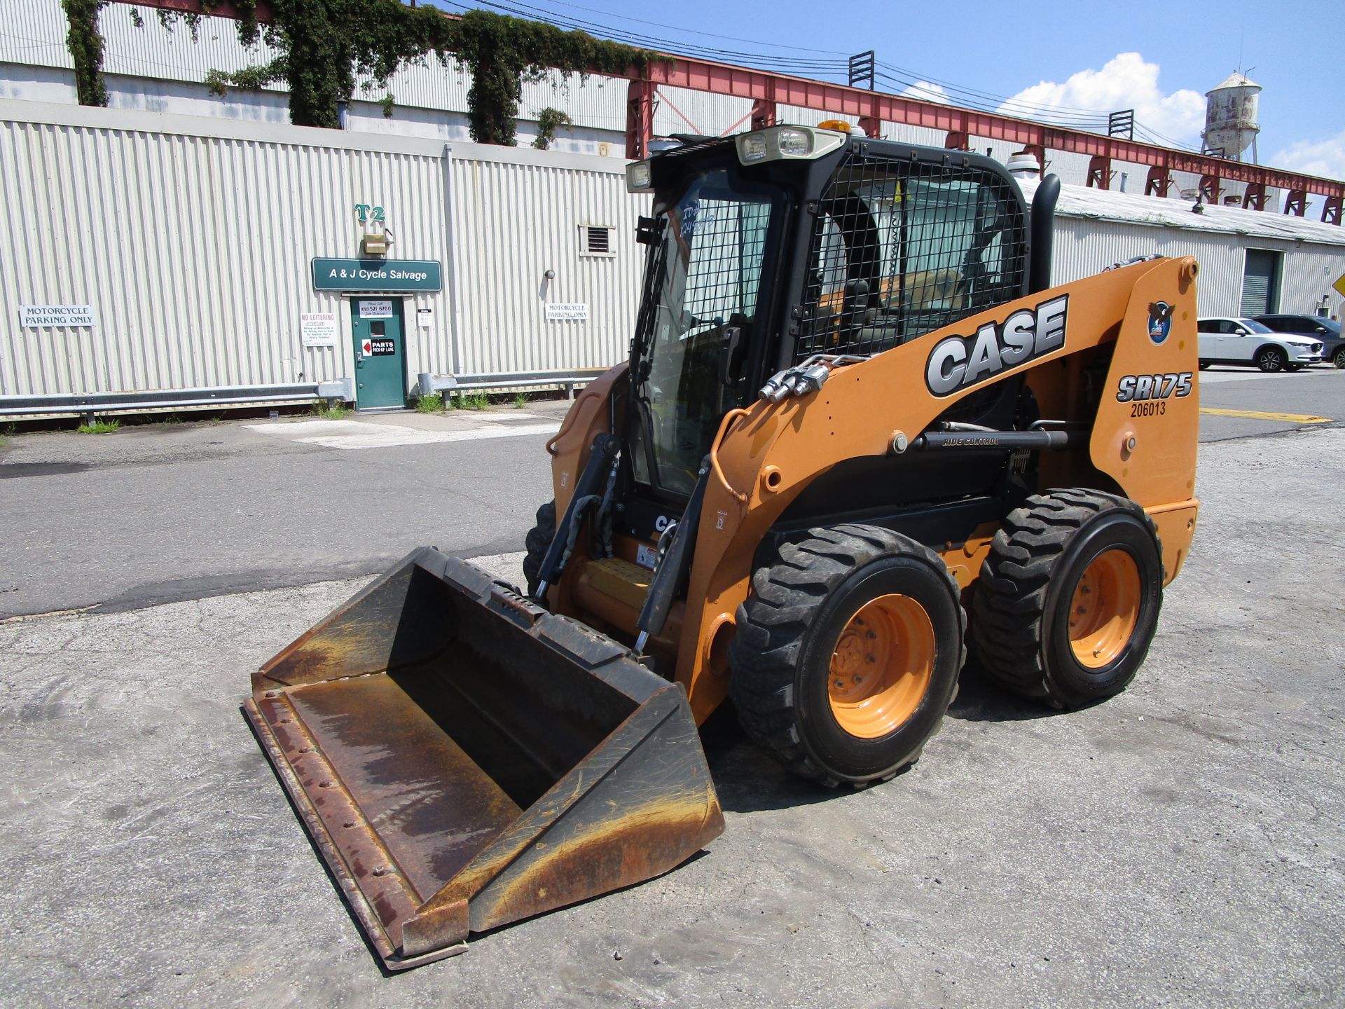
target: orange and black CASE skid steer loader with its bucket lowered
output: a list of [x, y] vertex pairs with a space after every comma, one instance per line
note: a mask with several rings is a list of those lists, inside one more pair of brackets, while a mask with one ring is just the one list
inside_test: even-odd
[[245, 704], [393, 969], [705, 846], [728, 698], [862, 786], [919, 757], [968, 648], [1056, 708], [1124, 689], [1190, 545], [1194, 260], [1052, 287], [1054, 178], [1029, 210], [989, 159], [823, 128], [627, 183], [631, 355], [547, 444], [527, 592], [418, 550]]

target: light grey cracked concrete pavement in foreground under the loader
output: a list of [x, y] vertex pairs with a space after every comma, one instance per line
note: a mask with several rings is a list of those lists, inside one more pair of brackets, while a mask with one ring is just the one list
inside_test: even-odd
[[1202, 447], [1124, 694], [1050, 714], [967, 673], [924, 759], [858, 792], [712, 722], [707, 854], [395, 977], [238, 713], [358, 583], [0, 623], [0, 1001], [1340, 1004], [1345, 550], [1318, 517], [1342, 482], [1340, 428]]

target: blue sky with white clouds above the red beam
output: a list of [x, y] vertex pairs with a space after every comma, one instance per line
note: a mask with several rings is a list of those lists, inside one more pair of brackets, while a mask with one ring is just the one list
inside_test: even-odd
[[[1192, 147], [1200, 145], [1204, 93], [1240, 65], [1264, 87], [1262, 163], [1345, 178], [1342, 0], [502, 3], [668, 42], [777, 55], [781, 63], [843, 59], [873, 48], [889, 67], [913, 71], [909, 79], [1071, 109], [1107, 112], [1132, 105], [1137, 120], [1150, 130]], [[441, 5], [460, 9], [459, 4]], [[803, 75], [830, 77], [816, 70]], [[890, 81], [880, 87], [902, 90]], [[939, 97], [939, 90], [931, 93]], [[944, 90], [959, 104], [955, 93]]]

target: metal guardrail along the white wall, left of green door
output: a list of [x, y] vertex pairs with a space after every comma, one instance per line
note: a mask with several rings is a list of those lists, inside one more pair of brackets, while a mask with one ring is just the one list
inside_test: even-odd
[[312, 400], [352, 400], [354, 382], [296, 382], [292, 385], [218, 386], [213, 389], [149, 389], [122, 393], [61, 393], [55, 396], [0, 396], [0, 417], [82, 416], [137, 410], [187, 410], [210, 406], [266, 406]]

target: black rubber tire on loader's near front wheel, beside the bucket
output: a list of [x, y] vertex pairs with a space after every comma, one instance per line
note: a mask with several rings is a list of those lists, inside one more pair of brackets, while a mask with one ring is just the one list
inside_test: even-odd
[[[861, 739], [831, 712], [831, 655], [850, 618], [894, 592], [929, 618], [932, 673], [901, 725]], [[729, 696], [746, 733], [795, 774], [829, 787], [886, 780], [915, 763], [956, 696], [966, 627], [958, 583], [933, 550], [877, 526], [811, 529], [752, 577], [729, 651]]]

